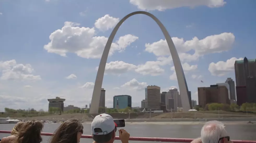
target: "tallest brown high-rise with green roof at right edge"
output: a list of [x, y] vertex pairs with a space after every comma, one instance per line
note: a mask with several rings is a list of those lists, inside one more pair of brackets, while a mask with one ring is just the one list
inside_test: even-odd
[[235, 75], [236, 86], [246, 86], [247, 77], [256, 77], [256, 59], [236, 60]]

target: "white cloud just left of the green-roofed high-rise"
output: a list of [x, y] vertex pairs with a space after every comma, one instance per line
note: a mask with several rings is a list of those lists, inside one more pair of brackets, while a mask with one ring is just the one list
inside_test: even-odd
[[210, 63], [208, 70], [211, 72], [213, 76], [224, 76], [225, 74], [234, 71], [235, 61], [243, 60], [243, 58], [230, 58], [226, 62], [219, 61], [217, 63]]

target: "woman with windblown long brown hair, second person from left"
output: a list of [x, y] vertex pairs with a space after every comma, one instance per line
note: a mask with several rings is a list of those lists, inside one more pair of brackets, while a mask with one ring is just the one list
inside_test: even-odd
[[41, 132], [43, 130], [44, 124], [40, 121], [27, 121], [25, 122], [17, 138], [13, 143], [40, 143], [42, 142]]

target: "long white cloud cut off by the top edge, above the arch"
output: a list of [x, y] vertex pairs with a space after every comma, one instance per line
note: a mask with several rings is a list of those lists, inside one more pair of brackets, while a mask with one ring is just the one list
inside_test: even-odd
[[166, 9], [173, 9], [179, 7], [195, 7], [200, 5], [205, 5], [210, 8], [221, 7], [226, 2], [224, 0], [130, 0], [130, 3], [136, 5], [138, 9], [142, 10], [159, 10], [163, 11]]

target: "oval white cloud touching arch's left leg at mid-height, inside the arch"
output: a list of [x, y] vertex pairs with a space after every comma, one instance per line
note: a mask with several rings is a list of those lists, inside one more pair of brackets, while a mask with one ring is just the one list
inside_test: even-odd
[[[96, 67], [98, 70], [99, 67]], [[137, 68], [136, 65], [125, 63], [123, 61], [114, 61], [106, 64], [105, 73], [106, 74], [121, 74], [126, 73], [127, 71], [135, 70]]]

